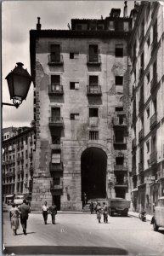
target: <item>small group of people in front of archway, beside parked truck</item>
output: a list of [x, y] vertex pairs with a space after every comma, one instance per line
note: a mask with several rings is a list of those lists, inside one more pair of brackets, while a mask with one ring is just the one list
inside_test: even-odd
[[102, 215], [104, 217], [104, 223], [108, 223], [108, 207], [105, 202], [103, 203], [103, 207], [101, 207], [100, 202], [96, 202], [96, 206], [94, 207], [93, 201], [91, 201], [89, 208], [90, 208], [91, 214], [93, 214], [95, 210], [99, 223], [101, 222]]

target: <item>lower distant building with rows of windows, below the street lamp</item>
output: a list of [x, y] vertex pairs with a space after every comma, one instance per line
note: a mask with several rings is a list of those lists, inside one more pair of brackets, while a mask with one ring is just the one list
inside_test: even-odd
[[32, 192], [35, 128], [3, 129], [3, 201]]

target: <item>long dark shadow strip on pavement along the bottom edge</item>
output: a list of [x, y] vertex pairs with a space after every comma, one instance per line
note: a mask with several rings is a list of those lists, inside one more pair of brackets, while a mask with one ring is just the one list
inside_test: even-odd
[[6, 247], [4, 254], [57, 254], [57, 255], [127, 255], [127, 251], [115, 247], [69, 247], [69, 246], [30, 246]]

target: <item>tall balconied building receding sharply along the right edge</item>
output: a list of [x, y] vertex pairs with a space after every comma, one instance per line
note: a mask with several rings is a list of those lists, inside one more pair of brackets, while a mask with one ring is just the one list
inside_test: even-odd
[[164, 195], [164, 8], [141, 2], [131, 13], [133, 208], [153, 212]]

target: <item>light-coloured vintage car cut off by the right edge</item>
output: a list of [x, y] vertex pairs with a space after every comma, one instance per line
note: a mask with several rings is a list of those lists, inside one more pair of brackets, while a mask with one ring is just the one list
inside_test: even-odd
[[155, 219], [153, 221], [153, 228], [155, 231], [162, 227], [164, 228], [164, 196], [160, 197], [155, 207]]

